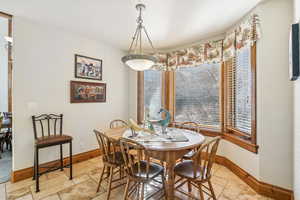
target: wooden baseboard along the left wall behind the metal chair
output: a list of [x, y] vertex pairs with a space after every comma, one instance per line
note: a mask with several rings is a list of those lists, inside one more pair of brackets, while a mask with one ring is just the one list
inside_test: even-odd
[[[79, 153], [79, 154], [73, 155], [73, 163], [82, 162], [82, 161], [85, 161], [85, 160], [88, 160], [88, 159], [91, 159], [91, 158], [94, 158], [97, 156], [100, 156], [99, 149]], [[69, 157], [64, 158], [64, 165], [67, 165], [68, 163], [69, 163]], [[41, 166], [55, 166], [55, 165], [59, 166], [60, 161], [55, 160], [55, 161], [47, 162], [47, 163], [42, 164]], [[41, 171], [43, 171], [43, 168], [41, 168]], [[33, 176], [33, 167], [13, 171], [11, 173], [11, 182], [15, 183], [15, 182], [30, 178], [32, 176]]]

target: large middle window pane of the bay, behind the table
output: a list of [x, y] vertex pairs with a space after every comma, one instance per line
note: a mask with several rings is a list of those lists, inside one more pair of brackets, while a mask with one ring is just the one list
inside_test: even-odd
[[175, 76], [175, 121], [219, 127], [220, 64], [182, 67]]

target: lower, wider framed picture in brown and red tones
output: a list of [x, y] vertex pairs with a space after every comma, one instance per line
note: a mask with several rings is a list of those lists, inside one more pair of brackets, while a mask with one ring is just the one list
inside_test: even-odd
[[71, 103], [106, 102], [106, 83], [71, 81]]

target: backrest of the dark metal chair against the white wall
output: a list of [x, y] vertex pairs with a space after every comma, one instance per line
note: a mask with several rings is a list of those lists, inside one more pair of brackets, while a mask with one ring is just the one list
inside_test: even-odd
[[[58, 123], [59, 122], [59, 123]], [[63, 114], [43, 114], [32, 116], [34, 138], [62, 135]]]

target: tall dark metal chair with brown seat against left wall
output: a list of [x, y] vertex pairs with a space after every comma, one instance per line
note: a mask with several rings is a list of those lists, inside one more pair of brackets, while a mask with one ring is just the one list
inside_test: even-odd
[[[51, 172], [57, 169], [63, 171], [64, 168], [70, 167], [70, 180], [72, 176], [72, 140], [69, 135], [63, 134], [63, 115], [55, 114], [42, 114], [39, 116], [32, 116], [33, 133], [34, 133], [34, 177], [36, 181], [36, 192], [40, 191], [39, 177], [47, 172]], [[40, 134], [38, 134], [40, 133]], [[64, 166], [63, 162], [63, 144], [69, 143], [69, 164]], [[60, 166], [45, 167], [47, 170], [40, 172], [39, 166], [39, 150], [51, 146], [60, 145]], [[41, 167], [43, 168], [43, 167]]]

